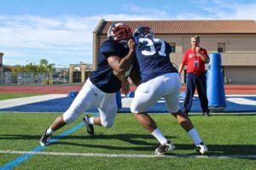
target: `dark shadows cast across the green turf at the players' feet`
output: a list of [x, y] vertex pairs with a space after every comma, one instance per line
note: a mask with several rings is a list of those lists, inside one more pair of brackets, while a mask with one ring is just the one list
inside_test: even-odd
[[[60, 137], [60, 136], [59, 136]], [[0, 135], [1, 139], [9, 140], [39, 140], [41, 136], [38, 135], [14, 135], [14, 134], [2, 134]], [[62, 138], [62, 137], [61, 137]], [[176, 139], [175, 136], [166, 136], [167, 139]], [[54, 139], [54, 137], [53, 137]], [[154, 150], [158, 147], [158, 144], [148, 143], [145, 139], [154, 139], [152, 135], [149, 134], [133, 134], [133, 133], [123, 133], [123, 134], [104, 134], [96, 135], [94, 137], [90, 136], [63, 136], [63, 139], [84, 139], [83, 143], [73, 143], [73, 142], [62, 142], [61, 140], [52, 143], [55, 144], [67, 144], [74, 146], [82, 146], [88, 148], [102, 148], [108, 150]], [[105, 144], [92, 144], [91, 140], [95, 139], [119, 139], [125, 143], [134, 144], [132, 146], [113, 146]], [[87, 141], [90, 141], [86, 143]], [[143, 146], [142, 146], [143, 145]], [[177, 150], [194, 150], [194, 144], [175, 144]], [[210, 151], [208, 155], [255, 155], [256, 153], [256, 144], [207, 144], [208, 150]]]

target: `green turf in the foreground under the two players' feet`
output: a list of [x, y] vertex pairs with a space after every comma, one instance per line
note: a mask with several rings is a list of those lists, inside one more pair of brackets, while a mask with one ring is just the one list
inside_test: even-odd
[[[198, 156], [192, 140], [172, 116], [152, 114], [161, 131], [177, 146], [172, 154], [154, 156], [157, 141], [131, 114], [119, 114], [110, 129], [96, 127], [96, 137], [85, 133], [81, 116], [55, 133], [54, 144], [39, 146], [38, 139], [58, 114], [0, 112], [0, 169], [26, 155], [29, 158], [15, 165], [15, 169], [253, 169], [256, 166], [255, 115], [190, 116], [210, 150], [207, 156]], [[42, 149], [33, 152], [37, 147]]]

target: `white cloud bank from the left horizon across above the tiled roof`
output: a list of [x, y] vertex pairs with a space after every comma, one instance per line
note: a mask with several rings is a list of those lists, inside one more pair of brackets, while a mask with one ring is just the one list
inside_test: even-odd
[[[164, 8], [123, 6], [122, 14], [93, 16], [0, 15], [0, 52], [5, 65], [48, 59], [56, 65], [92, 63], [92, 32], [105, 20], [256, 20], [256, 3], [191, 1], [196, 10], [171, 14]], [[129, 8], [129, 14], [125, 14]], [[128, 12], [127, 12], [128, 13]]]

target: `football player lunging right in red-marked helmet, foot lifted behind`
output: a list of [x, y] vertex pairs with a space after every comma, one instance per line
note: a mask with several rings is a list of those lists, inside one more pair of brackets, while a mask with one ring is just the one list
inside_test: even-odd
[[108, 29], [108, 40], [102, 42], [96, 71], [84, 83], [72, 105], [63, 115], [45, 130], [40, 139], [41, 145], [48, 145], [52, 134], [67, 123], [73, 122], [80, 114], [92, 107], [97, 107], [100, 116], [84, 116], [84, 123], [90, 136], [95, 135], [93, 125], [112, 127], [117, 114], [115, 93], [122, 88], [129, 92], [130, 83], [125, 78], [125, 71], [131, 67], [135, 53], [135, 42], [131, 39], [131, 28], [123, 23], [113, 24]]

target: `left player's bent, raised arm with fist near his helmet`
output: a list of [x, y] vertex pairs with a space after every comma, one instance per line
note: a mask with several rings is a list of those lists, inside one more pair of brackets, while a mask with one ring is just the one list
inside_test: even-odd
[[117, 55], [108, 56], [108, 64], [113, 68], [113, 71], [119, 74], [125, 74], [125, 71], [129, 70], [134, 57], [135, 42], [130, 39], [127, 43], [130, 50], [124, 58], [120, 58]]

